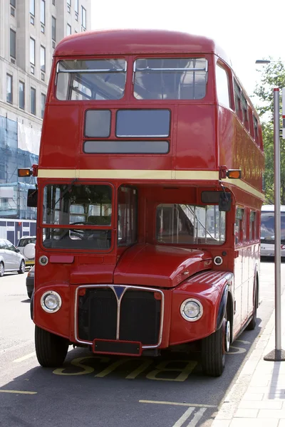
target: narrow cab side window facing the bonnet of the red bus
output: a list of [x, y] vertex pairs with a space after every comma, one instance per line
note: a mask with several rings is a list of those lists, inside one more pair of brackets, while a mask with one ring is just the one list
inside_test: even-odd
[[138, 191], [129, 186], [118, 189], [118, 246], [130, 246], [137, 241]]

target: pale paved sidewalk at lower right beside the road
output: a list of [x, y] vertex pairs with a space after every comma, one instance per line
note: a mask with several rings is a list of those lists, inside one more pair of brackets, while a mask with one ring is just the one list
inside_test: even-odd
[[[285, 292], [281, 307], [281, 344], [284, 349]], [[264, 356], [274, 349], [275, 311], [219, 408], [212, 427], [285, 427], [285, 361], [264, 360]]]

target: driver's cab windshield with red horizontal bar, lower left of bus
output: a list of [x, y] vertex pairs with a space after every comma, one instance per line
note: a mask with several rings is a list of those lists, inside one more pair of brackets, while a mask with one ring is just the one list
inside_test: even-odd
[[43, 246], [108, 249], [111, 218], [110, 186], [49, 184], [43, 191]]

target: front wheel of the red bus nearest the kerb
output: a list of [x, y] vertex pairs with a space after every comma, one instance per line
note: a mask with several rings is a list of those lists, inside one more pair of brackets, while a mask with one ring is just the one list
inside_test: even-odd
[[202, 339], [202, 371], [209, 376], [221, 376], [229, 351], [231, 325], [224, 317], [222, 326], [213, 334]]

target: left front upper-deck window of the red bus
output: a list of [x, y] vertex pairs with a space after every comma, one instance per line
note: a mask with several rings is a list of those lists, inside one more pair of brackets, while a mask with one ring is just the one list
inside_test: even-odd
[[124, 59], [61, 60], [57, 65], [58, 100], [119, 100], [125, 92]]

